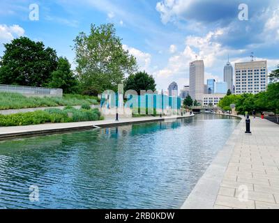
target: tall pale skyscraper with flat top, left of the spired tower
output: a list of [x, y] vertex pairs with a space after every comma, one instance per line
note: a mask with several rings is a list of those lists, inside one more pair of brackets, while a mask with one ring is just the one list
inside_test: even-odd
[[189, 77], [191, 98], [202, 102], [204, 94], [204, 61], [190, 63]]

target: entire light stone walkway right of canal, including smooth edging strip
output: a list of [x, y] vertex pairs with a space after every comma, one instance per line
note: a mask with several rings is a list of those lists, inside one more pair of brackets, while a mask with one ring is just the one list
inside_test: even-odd
[[181, 208], [279, 209], [279, 126], [243, 118]]

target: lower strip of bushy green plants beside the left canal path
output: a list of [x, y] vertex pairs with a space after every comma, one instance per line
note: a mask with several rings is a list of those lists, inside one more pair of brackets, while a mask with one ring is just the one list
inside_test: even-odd
[[98, 109], [45, 109], [44, 111], [0, 115], [0, 126], [38, 125], [103, 120]]

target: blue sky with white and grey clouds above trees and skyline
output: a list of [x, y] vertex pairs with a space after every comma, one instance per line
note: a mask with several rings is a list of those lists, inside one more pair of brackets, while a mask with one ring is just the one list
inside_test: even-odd
[[[31, 4], [38, 5], [38, 20], [30, 20]], [[110, 22], [157, 89], [187, 85], [196, 57], [204, 60], [205, 79], [220, 82], [228, 55], [232, 66], [250, 61], [251, 52], [268, 61], [269, 71], [279, 64], [278, 0], [0, 0], [0, 56], [4, 43], [27, 36], [66, 56], [74, 69], [78, 33]]]

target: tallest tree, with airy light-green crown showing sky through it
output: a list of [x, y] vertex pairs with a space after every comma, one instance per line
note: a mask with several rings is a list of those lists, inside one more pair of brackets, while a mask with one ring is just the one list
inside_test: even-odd
[[82, 32], [74, 41], [77, 74], [84, 91], [116, 91], [125, 75], [137, 70], [135, 57], [123, 49], [113, 24], [92, 24], [88, 36]]

